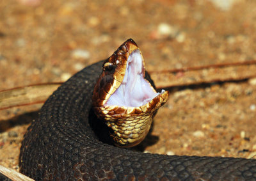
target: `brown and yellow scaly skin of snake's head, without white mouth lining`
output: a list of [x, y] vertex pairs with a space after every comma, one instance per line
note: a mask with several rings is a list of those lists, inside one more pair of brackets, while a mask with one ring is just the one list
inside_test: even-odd
[[[163, 106], [164, 102], [168, 99], [168, 91], [157, 93], [150, 83], [143, 79], [143, 83], [147, 84], [146, 87], [150, 89], [148, 92], [150, 92], [151, 96], [152, 94], [154, 95], [150, 100], [148, 100], [150, 95], [143, 96], [149, 97], [146, 98], [146, 100], [142, 100], [142, 102], [147, 103], [141, 106], [130, 106], [123, 105], [124, 101], [120, 106], [109, 105], [109, 102], [111, 102], [109, 98], [117, 92], [116, 90], [120, 88], [124, 80], [128, 68], [127, 66], [129, 66], [129, 56], [131, 54], [134, 56], [134, 54], [138, 53], [140, 56], [139, 59], [142, 61], [140, 62], [142, 68], [140, 72], [143, 77], [145, 77], [145, 63], [140, 49], [132, 39], [129, 39], [124, 42], [112, 56], [104, 61], [102, 74], [100, 74], [93, 90], [92, 99], [95, 114], [98, 118], [105, 120], [108, 127], [113, 129], [111, 136], [113, 136], [114, 144], [119, 147], [132, 147], [143, 141], [150, 129], [153, 114], [156, 113], [157, 109]], [[132, 83], [132, 85], [134, 86], [134, 83]], [[124, 87], [122, 88], [125, 89]], [[120, 100], [124, 99], [123, 97], [118, 98]]]

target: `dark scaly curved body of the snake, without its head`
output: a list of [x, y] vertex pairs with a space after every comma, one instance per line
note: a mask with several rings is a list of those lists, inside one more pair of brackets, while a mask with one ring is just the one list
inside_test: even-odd
[[256, 180], [255, 159], [168, 156], [108, 144], [108, 131], [92, 112], [101, 72], [102, 61], [84, 68], [45, 102], [20, 148], [22, 173], [35, 180]]

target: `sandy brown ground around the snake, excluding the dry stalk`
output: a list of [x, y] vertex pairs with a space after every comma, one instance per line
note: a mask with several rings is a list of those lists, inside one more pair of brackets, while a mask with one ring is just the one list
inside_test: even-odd
[[[127, 38], [149, 71], [256, 59], [256, 1], [24, 2], [0, 1], [0, 90], [65, 81]], [[22, 137], [41, 106], [0, 111], [1, 165], [19, 169]], [[145, 152], [252, 158], [255, 115], [255, 78], [172, 88]]]

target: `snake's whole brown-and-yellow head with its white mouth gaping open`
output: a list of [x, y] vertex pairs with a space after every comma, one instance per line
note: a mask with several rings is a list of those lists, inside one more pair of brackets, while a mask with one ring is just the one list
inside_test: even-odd
[[145, 63], [138, 45], [129, 39], [102, 65], [93, 90], [93, 109], [113, 129], [119, 147], [138, 145], [148, 134], [152, 115], [168, 99], [144, 78]]

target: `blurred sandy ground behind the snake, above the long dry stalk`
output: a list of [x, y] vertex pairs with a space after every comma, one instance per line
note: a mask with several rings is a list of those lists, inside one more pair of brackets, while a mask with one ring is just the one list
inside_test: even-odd
[[148, 70], [256, 59], [256, 2], [242, 0], [0, 3], [1, 89], [65, 81], [128, 38]]

